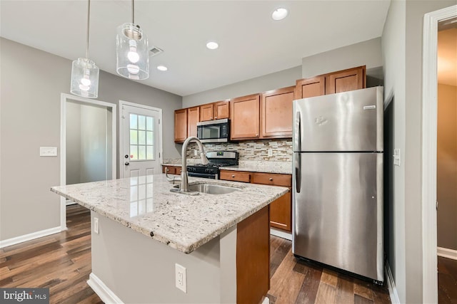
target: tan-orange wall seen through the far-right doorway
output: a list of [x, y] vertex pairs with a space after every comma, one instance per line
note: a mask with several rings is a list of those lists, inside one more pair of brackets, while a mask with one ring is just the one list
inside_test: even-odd
[[457, 250], [457, 87], [438, 83], [438, 246]]

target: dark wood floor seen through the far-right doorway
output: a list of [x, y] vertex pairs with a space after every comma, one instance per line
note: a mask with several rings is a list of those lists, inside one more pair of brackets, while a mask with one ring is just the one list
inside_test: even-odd
[[438, 256], [438, 303], [457, 304], [457, 261]]

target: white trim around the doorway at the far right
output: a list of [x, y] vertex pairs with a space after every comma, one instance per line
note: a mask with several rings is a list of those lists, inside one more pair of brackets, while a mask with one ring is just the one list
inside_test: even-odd
[[422, 54], [422, 302], [438, 303], [436, 141], [438, 22], [457, 16], [457, 6], [423, 17]]

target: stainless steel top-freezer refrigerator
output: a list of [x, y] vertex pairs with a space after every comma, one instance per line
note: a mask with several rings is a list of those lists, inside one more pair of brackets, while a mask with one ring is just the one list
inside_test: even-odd
[[293, 101], [293, 254], [383, 276], [383, 88]]

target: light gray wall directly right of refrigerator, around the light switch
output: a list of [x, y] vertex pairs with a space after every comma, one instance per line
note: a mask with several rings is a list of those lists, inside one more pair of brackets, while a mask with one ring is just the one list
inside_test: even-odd
[[[393, 149], [405, 150], [405, 11], [406, 2], [392, 1], [388, 10], [382, 36], [382, 54], [384, 69], [384, 102], [387, 105], [386, 117], [386, 194], [384, 210], [388, 216], [384, 221], [385, 248], [387, 260], [391, 266], [398, 296], [401, 303], [406, 302], [405, 271], [405, 168], [394, 166]], [[403, 159], [402, 159], [403, 161]]]

